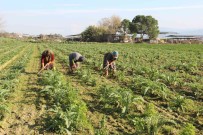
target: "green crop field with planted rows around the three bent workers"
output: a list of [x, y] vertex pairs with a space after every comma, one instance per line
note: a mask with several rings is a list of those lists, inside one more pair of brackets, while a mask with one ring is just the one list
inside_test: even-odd
[[[38, 75], [41, 53], [55, 71]], [[102, 76], [104, 53], [117, 72]], [[86, 57], [74, 74], [68, 55]], [[0, 38], [0, 134], [203, 134], [203, 45], [30, 43]]]

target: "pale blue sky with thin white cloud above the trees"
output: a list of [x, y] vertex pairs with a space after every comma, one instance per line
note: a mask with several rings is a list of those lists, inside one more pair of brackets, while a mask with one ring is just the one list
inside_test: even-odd
[[113, 15], [151, 15], [160, 31], [203, 35], [203, 0], [0, 0], [1, 28], [21, 34], [79, 34]]

